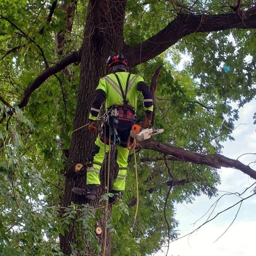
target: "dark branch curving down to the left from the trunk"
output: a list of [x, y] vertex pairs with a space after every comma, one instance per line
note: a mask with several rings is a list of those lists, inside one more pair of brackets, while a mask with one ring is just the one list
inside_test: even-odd
[[[18, 107], [19, 108], [25, 107], [30, 99], [32, 92], [35, 91], [41, 84], [43, 84], [43, 82], [46, 81], [50, 76], [58, 73], [59, 71], [66, 68], [66, 66], [74, 62], [78, 62], [80, 58], [81, 56], [80, 56], [80, 49], [79, 49], [78, 51], [75, 51], [63, 57], [56, 65], [44, 70], [41, 74], [37, 76], [37, 78], [33, 81], [33, 83], [24, 90], [25, 94], [23, 95], [21, 102], [18, 104]], [[13, 112], [10, 111], [8, 112], [8, 114], [12, 116]], [[4, 118], [1, 119], [0, 123], [2, 121], [4, 121]]]

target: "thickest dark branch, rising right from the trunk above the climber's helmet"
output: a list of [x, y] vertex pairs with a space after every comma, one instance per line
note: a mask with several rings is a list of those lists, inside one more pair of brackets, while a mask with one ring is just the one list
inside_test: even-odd
[[231, 28], [256, 28], [256, 6], [244, 11], [243, 14], [240, 12], [218, 15], [180, 14], [159, 33], [137, 46], [126, 46], [124, 52], [127, 52], [130, 67], [133, 67], [154, 58], [189, 34]]

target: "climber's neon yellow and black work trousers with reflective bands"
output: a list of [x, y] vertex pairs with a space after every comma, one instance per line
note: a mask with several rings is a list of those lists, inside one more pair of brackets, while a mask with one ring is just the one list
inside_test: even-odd
[[[115, 124], [117, 130], [117, 135], [121, 140], [120, 145], [117, 145], [117, 155], [116, 163], [118, 167], [118, 174], [114, 179], [113, 190], [122, 191], [125, 188], [126, 174], [127, 174], [127, 159], [129, 155], [129, 150], [127, 149], [127, 140], [130, 135], [132, 123], [129, 121], [119, 120], [118, 124]], [[109, 126], [103, 128], [103, 136], [98, 134], [98, 137], [95, 141], [95, 146], [92, 149], [91, 153], [91, 166], [87, 168], [87, 181], [86, 184], [100, 184], [100, 169], [105, 158], [106, 153], [109, 150], [109, 143], [104, 139], [106, 136], [107, 140], [109, 139]], [[102, 138], [101, 138], [102, 137]], [[113, 136], [111, 136], [113, 140]], [[105, 141], [105, 143], [104, 143]], [[106, 149], [105, 149], [106, 147]]]

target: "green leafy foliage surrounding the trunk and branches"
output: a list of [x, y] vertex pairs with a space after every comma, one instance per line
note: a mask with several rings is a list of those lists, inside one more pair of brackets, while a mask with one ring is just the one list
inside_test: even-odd
[[[2, 0], [0, 4], [0, 116], [7, 116], [0, 124], [0, 255], [63, 255], [59, 234], [69, 231], [71, 219], [77, 221], [79, 241], [72, 245], [72, 254], [85, 252], [85, 242], [97, 253], [102, 250], [94, 233], [102, 210], [73, 204], [61, 214], [80, 66], [75, 63], [50, 77], [33, 92], [26, 108], [17, 106], [26, 88], [47, 65], [81, 46], [88, 2], [78, 2], [72, 31], [65, 30], [63, 1], [58, 1], [54, 15], [47, 21], [53, 2]], [[71, 5], [71, 1], [67, 2]], [[179, 13], [231, 11], [229, 1], [222, 1], [223, 6], [215, 0], [204, 4], [182, 2], [183, 6], [174, 6], [172, 1], [128, 1], [126, 43], [139, 44]], [[60, 47], [55, 36], [63, 34], [65, 42]], [[155, 128], [164, 128], [165, 133], [157, 139], [196, 153], [221, 153], [222, 142], [233, 139], [230, 134], [238, 119], [238, 110], [231, 103], [238, 102], [242, 107], [255, 97], [255, 49], [252, 30], [191, 34], [158, 57], [136, 66], [133, 73], [142, 75], [148, 84], [154, 71], [162, 66]], [[189, 57], [183, 68], [182, 54]], [[224, 65], [230, 71], [225, 71]], [[140, 104], [139, 118], [143, 116], [142, 101]], [[11, 106], [15, 106], [12, 118], [8, 116]], [[143, 161], [145, 158], [149, 161]], [[163, 211], [170, 176], [163, 156], [140, 150], [137, 159], [137, 223], [130, 233], [136, 196], [131, 157], [123, 202], [113, 207], [112, 218], [108, 218], [112, 255], [147, 255], [167, 241]], [[178, 222], [174, 204], [191, 203], [202, 193], [215, 196], [220, 178], [215, 169], [207, 166], [174, 161], [168, 164], [175, 181], [185, 181], [174, 187], [167, 203], [171, 239], [175, 239]]]

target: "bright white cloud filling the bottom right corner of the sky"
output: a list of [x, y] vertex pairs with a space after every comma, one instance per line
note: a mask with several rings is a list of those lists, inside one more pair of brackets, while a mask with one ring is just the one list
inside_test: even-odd
[[207, 224], [189, 238], [171, 242], [169, 255], [174, 256], [254, 256], [256, 221], [234, 223], [216, 242], [228, 226]]

